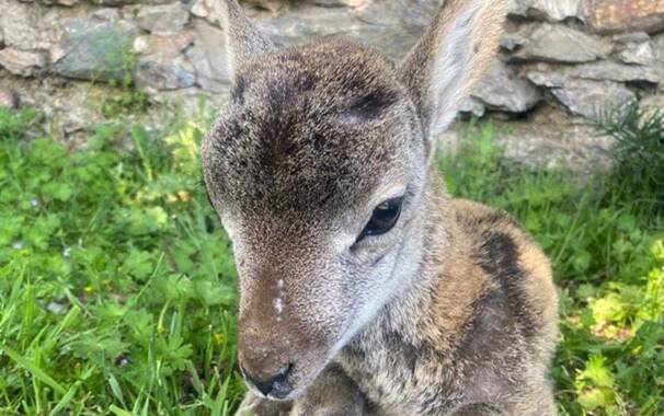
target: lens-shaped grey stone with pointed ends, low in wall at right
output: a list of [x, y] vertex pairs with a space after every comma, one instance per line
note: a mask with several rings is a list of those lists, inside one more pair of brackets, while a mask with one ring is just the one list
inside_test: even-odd
[[570, 113], [586, 118], [636, 99], [632, 91], [611, 81], [569, 80], [550, 92]]

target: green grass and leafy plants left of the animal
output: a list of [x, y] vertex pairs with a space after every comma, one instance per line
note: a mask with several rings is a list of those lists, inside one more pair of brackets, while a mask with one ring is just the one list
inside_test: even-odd
[[72, 153], [23, 118], [0, 125], [0, 414], [229, 414], [236, 275], [199, 126], [100, 126]]

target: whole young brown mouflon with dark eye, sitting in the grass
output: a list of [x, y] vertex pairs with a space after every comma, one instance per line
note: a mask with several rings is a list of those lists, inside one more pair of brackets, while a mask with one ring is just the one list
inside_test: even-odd
[[232, 90], [203, 166], [240, 275], [238, 414], [554, 414], [549, 262], [432, 162], [505, 3], [446, 0], [394, 66], [345, 41], [276, 49], [217, 2]]

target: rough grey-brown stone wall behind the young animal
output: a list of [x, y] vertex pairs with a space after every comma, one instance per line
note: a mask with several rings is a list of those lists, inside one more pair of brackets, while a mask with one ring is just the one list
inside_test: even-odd
[[[0, 101], [42, 108], [67, 137], [108, 83], [185, 111], [229, 89], [215, 0], [0, 0]], [[343, 36], [398, 60], [440, 0], [247, 0], [278, 45]], [[662, 101], [664, 0], [512, 0], [501, 56], [463, 112], [574, 124], [629, 99]], [[170, 104], [169, 104], [170, 103]], [[538, 116], [539, 115], [539, 116]], [[152, 117], [163, 120], [163, 113]]]

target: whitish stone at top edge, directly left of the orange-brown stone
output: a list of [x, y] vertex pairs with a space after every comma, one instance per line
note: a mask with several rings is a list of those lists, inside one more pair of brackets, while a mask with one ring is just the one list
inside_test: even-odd
[[586, 19], [585, 0], [512, 0], [510, 14], [560, 22], [569, 18]]

